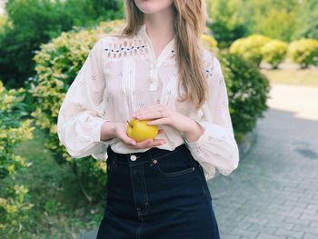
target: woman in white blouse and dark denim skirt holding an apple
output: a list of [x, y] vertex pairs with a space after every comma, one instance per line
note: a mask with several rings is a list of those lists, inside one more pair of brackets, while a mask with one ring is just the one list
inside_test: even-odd
[[[122, 35], [104, 36], [70, 86], [58, 135], [75, 158], [107, 163], [97, 238], [219, 238], [206, 181], [239, 152], [217, 58], [202, 50], [204, 0], [126, 0]], [[160, 134], [135, 142], [127, 120]]]

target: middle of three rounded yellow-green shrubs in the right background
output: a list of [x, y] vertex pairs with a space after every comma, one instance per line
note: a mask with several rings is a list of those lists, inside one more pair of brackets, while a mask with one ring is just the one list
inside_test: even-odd
[[271, 64], [275, 69], [283, 62], [287, 49], [288, 45], [282, 41], [270, 41], [262, 47], [263, 61]]

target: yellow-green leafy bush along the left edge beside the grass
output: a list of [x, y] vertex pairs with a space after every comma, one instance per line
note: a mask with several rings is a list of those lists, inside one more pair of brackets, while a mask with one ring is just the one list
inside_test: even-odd
[[15, 144], [33, 137], [32, 120], [25, 119], [25, 90], [6, 90], [0, 81], [0, 237], [22, 229], [27, 211], [27, 188], [15, 184], [15, 174], [30, 166], [25, 158], [14, 154]]

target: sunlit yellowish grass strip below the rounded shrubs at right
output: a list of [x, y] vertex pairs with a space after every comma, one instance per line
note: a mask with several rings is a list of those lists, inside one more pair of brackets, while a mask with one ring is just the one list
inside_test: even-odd
[[278, 69], [261, 72], [268, 77], [271, 84], [303, 85], [318, 87], [318, 68], [310, 69]]

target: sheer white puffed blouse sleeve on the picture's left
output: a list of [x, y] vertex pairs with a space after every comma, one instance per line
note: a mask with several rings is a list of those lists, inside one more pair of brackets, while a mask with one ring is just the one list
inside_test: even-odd
[[[100, 154], [112, 142], [101, 141], [105, 79], [102, 39], [98, 40], [68, 88], [57, 118], [57, 134], [67, 152], [81, 158]], [[96, 157], [95, 157], [96, 158]]]

